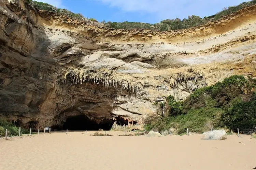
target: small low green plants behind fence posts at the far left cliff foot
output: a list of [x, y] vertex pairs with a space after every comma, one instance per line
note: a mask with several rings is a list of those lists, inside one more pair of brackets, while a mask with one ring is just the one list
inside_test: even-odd
[[[0, 133], [1, 136], [5, 135], [5, 129], [8, 130], [8, 136], [18, 136], [19, 135], [19, 128], [13, 125], [10, 122], [5, 120], [0, 120]], [[21, 134], [29, 134], [29, 130], [21, 129]]]

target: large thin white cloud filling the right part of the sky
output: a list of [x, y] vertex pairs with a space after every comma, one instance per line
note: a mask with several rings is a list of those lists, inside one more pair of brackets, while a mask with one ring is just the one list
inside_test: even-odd
[[224, 6], [238, 5], [244, 0], [100, 0], [123, 12], [142, 12], [158, 18], [184, 18], [188, 15], [212, 15]]

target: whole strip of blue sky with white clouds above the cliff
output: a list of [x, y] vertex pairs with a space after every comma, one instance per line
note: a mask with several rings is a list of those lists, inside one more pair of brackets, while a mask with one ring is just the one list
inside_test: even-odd
[[210, 16], [245, 0], [37, 0], [98, 21], [156, 23], [164, 19]]

